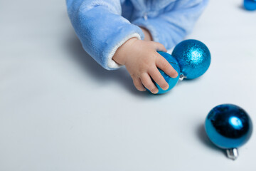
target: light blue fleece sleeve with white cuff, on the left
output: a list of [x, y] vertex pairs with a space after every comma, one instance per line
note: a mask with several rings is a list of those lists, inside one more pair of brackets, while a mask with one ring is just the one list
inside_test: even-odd
[[142, 29], [121, 16], [120, 0], [66, 0], [68, 16], [82, 47], [103, 68], [113, 70], [117, 48], [129, 38], [144, 38]]

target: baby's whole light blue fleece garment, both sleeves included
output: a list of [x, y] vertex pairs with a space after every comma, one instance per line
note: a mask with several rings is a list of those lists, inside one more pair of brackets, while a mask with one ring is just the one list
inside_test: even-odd
[[193, 28], [208, 0], [66, 0], [82, 47], [103, 68], [119, 68], [112, 56], [129, 38], [144, 39], [139, 26], [169, 49]]

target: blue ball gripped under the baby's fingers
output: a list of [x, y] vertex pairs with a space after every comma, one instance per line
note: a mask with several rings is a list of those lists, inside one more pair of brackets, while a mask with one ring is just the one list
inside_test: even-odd
[[[154, 82], [154, 80], [152, 80], [154, 82], [154, 84], [156, 85], [156, 87], [159, 89], [159, 92], [157, 94], [163, 94], [168, 92], [169, 90], [171, 90], [171, 88], [174, 88], [174, 86], [176, 86], [176, 83], [178, 83], [178, 78], [180, 76], [180, 68], [178, 66], [178, 62], [176, 61], [176, 59], [171, 56], [169, 53], [166, 52], [162, 52], [162, 51], [158, 51], [158, 53], [163, 56], [164, 58], [166, 58], [166, 60], [171, 64], [171, 66], [177, 71], [178, 76], [176, 78], [171, 78], [169, 77], [166, 73], [164, 73], [164, 71], [161, 71], [161, 69], [159, 69], [159, 72], [161, 73], [161, 75], [164, 77], [165, 81], [169, 84], [169, 88], [167, 90], [163, 90], [161, 89], [161, 87]], [[148, 89], [146, 89], [148, 90]], [[149, 90], [148, 90], [149, 91]], [[150, 92], [150, 91], [149, 91]]]

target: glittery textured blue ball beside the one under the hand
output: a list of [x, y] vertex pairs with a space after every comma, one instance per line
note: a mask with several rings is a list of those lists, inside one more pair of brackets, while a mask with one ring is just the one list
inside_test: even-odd
[[181, 78], [198, 78], [206, 73], [210, 66], [210, 51], [201, 41], [181, 41], [171, 55], [178, 61]]

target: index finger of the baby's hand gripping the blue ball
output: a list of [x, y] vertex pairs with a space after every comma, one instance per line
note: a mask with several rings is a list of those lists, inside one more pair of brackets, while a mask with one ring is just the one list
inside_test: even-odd
[[166, 73], [171, 78], [176, 78], [178, 76], [177, 71], [163, 56], [159, 55], [159, 57], [156, 60], [156, 66], [160, 68], [162, 71], [164, 71], [164, 73]]

